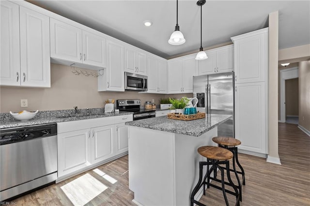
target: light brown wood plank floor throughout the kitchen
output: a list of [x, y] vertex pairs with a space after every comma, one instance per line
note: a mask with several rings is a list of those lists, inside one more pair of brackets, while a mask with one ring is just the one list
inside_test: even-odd
[[[263, 158], [239, 154], [239, 162], [246, 172], [241, 206], [310, 206], [310, 137], [299, 130], [295, 124], [279, 123], [279, 156], [282, 165], [266, 162]], [[101, 165], [97, 169], [34, 191], [12, 202], [18, 206], [70, 206], [73, 203], [68, 196], [71, 196], [77, 201], [88, 201], [87, 206], [135, 205], [131, 202], [134, 198], [133, 192], [128, 189], [128, 156]], [[109, 177], [105, 177], [106, 175]], [[83, 189], [83, 185], [85, 184], [85, 188], [89, 186], [86, 186], [88, 184], [86, 180], [83, 183], [84, 177], [103, 191], [95, 197], [91, 194], [86, 195], [87, 191]], [[79, 181], [75, 182], [77, 179]], [[117, 180], [114, 184], [113, 179]], [[84, 195], [78, 195], [80, 193], [72, 191], [67, 196], [63, 186], [67, 185], [67, 188], [70, 185], [68, 183], [71, 182], [73, 182], [72, 188], [66, 191], [77, 189]], [[80, 182], [83, 183], [81, 187]], [[73, 197], [74, 194], [76, 197]], [[87, 196], [89, 199], [85, 200], [83, 197], [81, 200], [79, 196]], [[230, 205], [234, 205], [234, 196], [230, 194], [227, 196]], [[222, 192], [215, 188], [208, 189], [200, 202], [209, 206], [225, 205]]]

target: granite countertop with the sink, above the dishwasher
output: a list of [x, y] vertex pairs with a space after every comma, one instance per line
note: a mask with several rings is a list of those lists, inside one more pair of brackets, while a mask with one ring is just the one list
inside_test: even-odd
[[[65, 111], [65, 112], [64, 112]], [[47, 124], [47, 123], [58, 123], [65, 121], [76, 121], [83, 119], [93, 119], [93, 118], [106, 118], [106, 117], [114, 117], [121, 115], [129, 115], [133, 114], [132, 112], [112, 112], [112, 113], [104, 113], [103, 111], [97, 113], [90, 113], [91, 115], [81, 116], [81, 117], [69, 117], [67, 110], [57, 110], [57, 111], [43, 111], [41, 114], [37, 114], [34, 118], [30, 120], [20, 121], [14, 119], [10, 113], [1, 113], [1, 122], [0, 129], [12, 128], [12, 127], [21, 127], [21, 126], [29, 126], [36, 124]]]

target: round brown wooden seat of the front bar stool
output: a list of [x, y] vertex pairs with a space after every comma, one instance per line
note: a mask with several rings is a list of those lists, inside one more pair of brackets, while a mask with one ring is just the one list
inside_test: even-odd
[[203, 146], [199, 147], [198, 153], [201, 154], [203, 157], [213, 160], [229, 160], [233, 158], [233, 152], [228, 149], [224, 149], [221, 147], [214, 147], [214, 146]]

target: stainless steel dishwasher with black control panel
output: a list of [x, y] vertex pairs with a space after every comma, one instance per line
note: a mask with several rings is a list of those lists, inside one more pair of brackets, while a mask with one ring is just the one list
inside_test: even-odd
[[0, 201], [57, 179], [57, 124], [0, 130]]

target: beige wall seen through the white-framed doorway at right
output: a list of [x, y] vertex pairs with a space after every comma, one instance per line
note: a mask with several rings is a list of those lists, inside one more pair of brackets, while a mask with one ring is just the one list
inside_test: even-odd
[[298, 116], [298, 78], [285, 80], [285, 114]]

